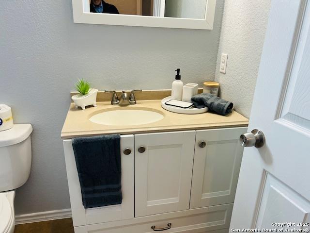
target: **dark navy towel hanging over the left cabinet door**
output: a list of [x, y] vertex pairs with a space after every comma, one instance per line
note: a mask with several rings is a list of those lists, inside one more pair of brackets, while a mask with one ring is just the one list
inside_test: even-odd
[[120, 135], [72, 139], [85, 208], [122, 203]]

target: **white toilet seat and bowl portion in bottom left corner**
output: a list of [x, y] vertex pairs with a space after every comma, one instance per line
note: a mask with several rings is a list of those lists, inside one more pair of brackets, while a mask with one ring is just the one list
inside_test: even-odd
[[15, 191], [0, 193], [0, 233], [14, 233], [14, 198]]

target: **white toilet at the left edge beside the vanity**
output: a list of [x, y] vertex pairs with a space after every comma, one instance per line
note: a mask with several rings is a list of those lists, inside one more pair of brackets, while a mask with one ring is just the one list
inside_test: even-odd
[[31, 132], [31, 124], [15, 124], [0, 131], [0, 233], [14, 232], [15, 189], [29, 178]]

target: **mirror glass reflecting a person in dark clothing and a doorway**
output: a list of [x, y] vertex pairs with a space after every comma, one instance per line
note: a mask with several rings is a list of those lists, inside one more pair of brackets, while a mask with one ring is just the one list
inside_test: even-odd
[[204, 19], [207, 0], [90, 0], [90, 12]]

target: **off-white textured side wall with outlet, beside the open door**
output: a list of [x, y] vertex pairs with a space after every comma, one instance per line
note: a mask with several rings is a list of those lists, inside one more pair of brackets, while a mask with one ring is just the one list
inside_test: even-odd
[[[216, 81], [221, 97], [249, 117], [267, 27], [270, 0], [226, 0], [217, 56]], [[226, 74], [219, 73], [228, 53]]]

